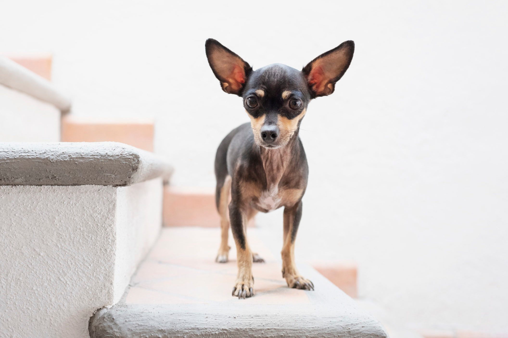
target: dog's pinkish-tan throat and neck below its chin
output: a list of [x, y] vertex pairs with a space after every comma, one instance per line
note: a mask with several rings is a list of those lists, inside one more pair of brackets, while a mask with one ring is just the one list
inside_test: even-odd
[[297, 135], [294, 135], [288, 144], [277, 149], [267, 149], [260, 147], [261, 161], [266, 174], [267, 189], [275, 189], [280, 179], [284, 175], [288, 164], [294, 154], [294, 148], [297, 144]]

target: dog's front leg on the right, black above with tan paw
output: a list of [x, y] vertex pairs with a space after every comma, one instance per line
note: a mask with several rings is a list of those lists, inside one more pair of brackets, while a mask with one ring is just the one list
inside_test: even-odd
[[313, 290], [314, 284], [303, 278], [295, 265], [295, 240], [302, 218], [302, 201], [284, 208], [284, 245], [282, 246], [282, 277], [289, 287]]

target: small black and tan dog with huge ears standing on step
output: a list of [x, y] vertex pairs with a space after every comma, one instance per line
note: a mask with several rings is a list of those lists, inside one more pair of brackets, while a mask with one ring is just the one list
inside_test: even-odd
[[[355, 44], [346, 41], [321, 54], [303, 69], [271, 64], [252, 70], [237, 54], [208, 39], [208, 63], [226, 93], [243, 98], [250, 118], [220, 143], [215, 156], [216, 204], [221, 244], [216, 261], [228, 261], [228, 231], [236, 243], [238, 276], [233, 295], [252, 296], [252, 261], [263, 261], [248, 245], [246, 225], [258, 212], [284, 207], [282, 277], [289, 287], [313, 290], [295, 265], [295, 239], [302, 217], [308, 166], [298, 136], [311, 99], [330, 95], [353, 59]], [[231, 195], [231, 202], [228, 205]]]

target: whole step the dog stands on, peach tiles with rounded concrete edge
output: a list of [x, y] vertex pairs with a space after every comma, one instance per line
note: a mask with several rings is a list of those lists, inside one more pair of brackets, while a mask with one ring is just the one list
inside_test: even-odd
[[315, 291], [291, 289], [281, 263], [249, 229], [249, 245], [266, 263], [255, 263], [255, 296], [231, 296], [236, 279], [230, 261], [214, 261], [219, 230], [165, 228], [142, 262], [122, 300], [90, 320], [90, 337], [387, 337], [371, 315], [306, 264], [302, 275]]

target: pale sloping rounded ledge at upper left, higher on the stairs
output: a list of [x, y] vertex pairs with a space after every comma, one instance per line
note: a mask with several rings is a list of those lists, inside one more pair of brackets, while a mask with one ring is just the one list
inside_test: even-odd
[[71, 109], [71, 100], [49, 81], [5, 56], [0, 56], [0, 84], [51, 103], [62, 112]]

